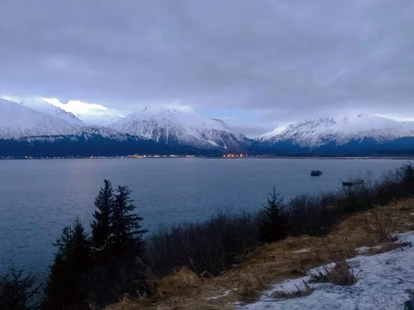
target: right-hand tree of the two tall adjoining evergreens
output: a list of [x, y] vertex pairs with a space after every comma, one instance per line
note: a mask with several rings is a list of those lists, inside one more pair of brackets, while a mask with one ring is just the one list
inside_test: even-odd
[[130, 249], [141, 254], [144, 249], [142, 236], [147, 231], [141, 229], [142, 218], [132, 213], [137, 206], [133, 204], [130, 194], [127, 186], [119, 186], [115, 194], [111, 227], [112, 254], [115, 255]]

